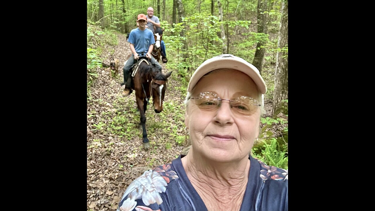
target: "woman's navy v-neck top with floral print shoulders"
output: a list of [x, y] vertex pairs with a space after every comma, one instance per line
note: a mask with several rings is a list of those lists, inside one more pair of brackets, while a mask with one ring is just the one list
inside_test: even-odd
[[[148, 170], [127, 187], [120, 206], [136, 211], [146, 206], [161, 211], [207, 211], [207, 208], [187, 178], [180, 155], [171, 163]], [[288, 172], [249, 156], [248, 184], [240, 211], [287, 211]], [[138, 210], [143, 210], [139, 209]]]

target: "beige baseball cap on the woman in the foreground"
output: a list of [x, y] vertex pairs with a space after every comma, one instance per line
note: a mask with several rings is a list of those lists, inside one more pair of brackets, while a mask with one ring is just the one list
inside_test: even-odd
[[257, 84], [261, 94], [265, 94], [267, 92], [266, 83], [264, 83], [259, 70], [251, 63], [246, 62], [240, 57], [233, 56], [232, 54], [221, 54], [219, 56], [215, 56], [211, 59], [205, 60], [198, 68], [196, 68], [195, 72], [190, 78], [189, 85], [187, 86], [187, 91], [191, 92], [195, 84], [203, 75], [215, 69], [222, 68], [236, 69], [245, 73], [246, 75], [249, 75], [249, 77], [255, 82], [255, 84]]

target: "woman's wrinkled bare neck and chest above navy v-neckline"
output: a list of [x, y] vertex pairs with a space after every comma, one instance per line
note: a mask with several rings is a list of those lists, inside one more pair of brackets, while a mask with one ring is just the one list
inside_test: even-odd
[[239, 210], [249, 178], [249, 158], [219, 163], [190, 152], [181, 161], [207, 209]]

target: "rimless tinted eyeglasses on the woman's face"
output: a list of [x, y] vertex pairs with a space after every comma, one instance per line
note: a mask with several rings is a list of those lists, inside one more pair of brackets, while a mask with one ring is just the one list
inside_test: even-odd
[[199, 109], [213, 111], [217, 110], [221, 106], [223, 100], [229, 101], [231, 109], [234, 113], [242, 116], [253, 115], [261, 104], [258, 104], [257, 100], [247, 96], [237, 96], [233, 99], [220, 99], [220, 97], [212, 92], [201, 92], [194, 98], [194, 103], [198, 105]]

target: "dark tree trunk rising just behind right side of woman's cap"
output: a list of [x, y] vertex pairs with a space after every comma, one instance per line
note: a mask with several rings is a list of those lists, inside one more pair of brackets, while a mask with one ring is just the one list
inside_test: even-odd
[[[267, 33], [267, 0], [258, 0], [258, 33]], [[263, 14], [262, 14], [263, 13]], [[257, 50], [255, 50], [255, 56], [253, 60], [253, 65], [258, 68], [259, 73], [262, 74], [262, 66], [263, 66], [263, 57], [266, 49], [263, 48], [264, 42], [260, 41], [257, 44]]]

